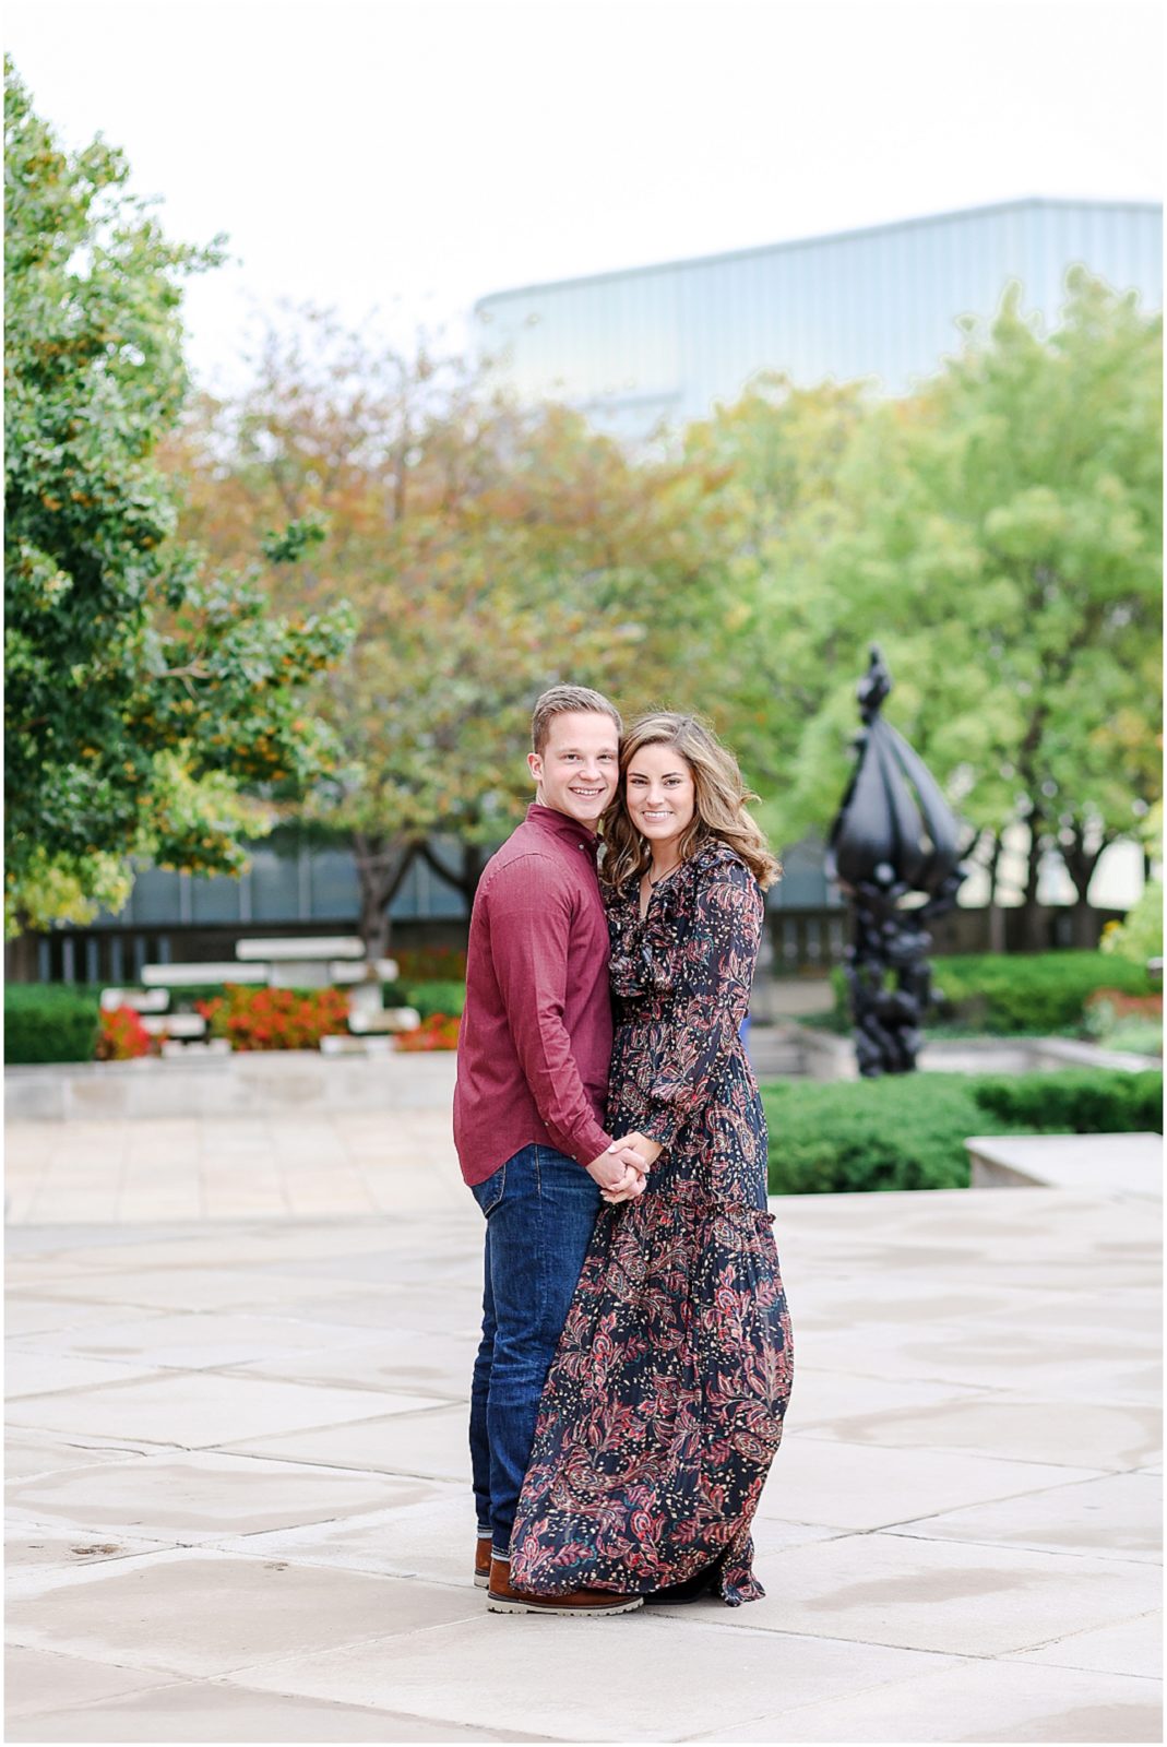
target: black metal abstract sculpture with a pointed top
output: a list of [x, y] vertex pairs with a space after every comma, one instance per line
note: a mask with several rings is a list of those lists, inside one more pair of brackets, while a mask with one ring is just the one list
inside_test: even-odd
[[952, 908], [966, 874], [961, 821], [922, 760], [880, 715], [889, 692], [891, 674], [874, 643], [858, 685], [858, 763], [826, 854], [828, 874], [854, 910], [846, 977], [865, 1078], [915, 1067], [921, 1022], [938, 994], [924, 957], [931, 935], [922, 924]]

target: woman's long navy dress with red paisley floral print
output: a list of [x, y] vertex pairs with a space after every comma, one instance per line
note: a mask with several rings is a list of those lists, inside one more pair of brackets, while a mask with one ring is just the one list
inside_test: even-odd
[[660, 880], [643, 919], [638, 884], [608, 905], [608, 1132], [639, 1130], [662, 1153], [645, 1193], [596, 1221], [540, 1403], [512, 1581], [632, 1595], [711, 1571], [735, 1607], [765, 1593], [749, 1525], [793, 1357], [739, 1038], [763, 905], [720, 842]]

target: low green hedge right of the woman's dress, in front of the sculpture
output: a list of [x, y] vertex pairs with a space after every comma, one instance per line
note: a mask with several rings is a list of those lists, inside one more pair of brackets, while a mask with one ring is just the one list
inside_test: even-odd
[[770, 1193], [968, 1188], [973, 1134], [1158, 1130], [1162, 1073], [891, 1074], [762, 1087]]

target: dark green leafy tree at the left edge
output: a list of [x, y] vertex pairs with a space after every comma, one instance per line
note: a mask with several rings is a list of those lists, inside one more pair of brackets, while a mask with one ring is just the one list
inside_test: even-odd
[[[304, 688], [342, 610], [273, 620], [260, 566], [175, 538], [154, 451], [187, 393], [169, 243], [101, 140], [70, 155], [5, 61], [5, 659], [9, 933], [117, 908], [133, 854], [238, 870], [257, 797], [330, 758]], [[273, 535], [280, 563], [304, 531]]]

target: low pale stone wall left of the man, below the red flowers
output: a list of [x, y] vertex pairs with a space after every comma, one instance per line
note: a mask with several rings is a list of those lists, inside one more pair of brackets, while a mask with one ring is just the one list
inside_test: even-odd
[[452, 1090], [452, 1052], [328, 1057], [273, 1050], [3, 1071], [9, 1122], [433, 1109], [449, 1102]]

